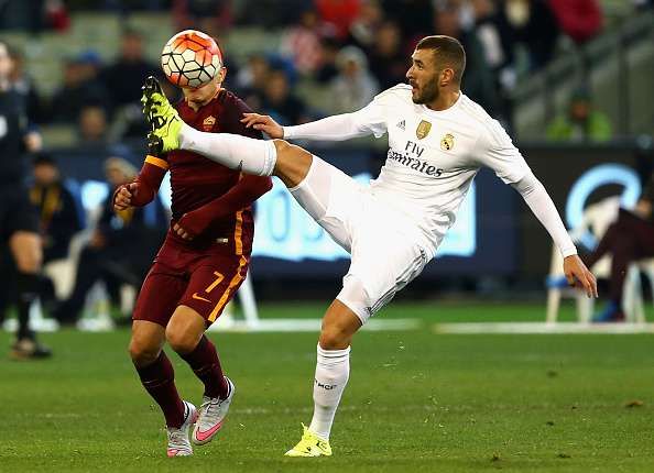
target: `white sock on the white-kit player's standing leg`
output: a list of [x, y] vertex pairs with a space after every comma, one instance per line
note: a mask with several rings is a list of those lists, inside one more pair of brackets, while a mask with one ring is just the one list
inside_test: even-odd
[[309, 430], [328, 440], [340, 396], [350, 376], [350, 348], [323, 350], [318, 345], [314, 380], [314, 418]]

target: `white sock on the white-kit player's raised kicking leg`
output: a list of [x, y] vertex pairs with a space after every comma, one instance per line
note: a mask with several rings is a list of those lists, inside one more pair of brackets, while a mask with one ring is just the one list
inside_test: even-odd
[[182, 125], [179, 147], [199, 153], [230, 169], [255, 176], [272, 176], [277, 161], [274, 142], [230, 133], [204, 133]]

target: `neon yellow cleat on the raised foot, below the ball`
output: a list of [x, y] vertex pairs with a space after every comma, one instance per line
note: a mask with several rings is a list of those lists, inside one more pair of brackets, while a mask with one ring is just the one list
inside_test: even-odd
[[182, 119], [166, 98], [159, 81], [152, 76], [145, 80], [141, 103], [145, 120], [152, 127], [152, 131], [148, 134], [149, 147], [160, 153], [177, 150]]

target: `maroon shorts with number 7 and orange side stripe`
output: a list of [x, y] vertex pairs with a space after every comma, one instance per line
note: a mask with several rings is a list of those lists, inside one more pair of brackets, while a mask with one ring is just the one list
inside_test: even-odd
[[143, 282], [133, 319], [166, 327], [177, 306], [187, 306], [211, 324], [246, 278], [249, 263], [249, 255], [228, 248], [198, 252], [166, 239]]

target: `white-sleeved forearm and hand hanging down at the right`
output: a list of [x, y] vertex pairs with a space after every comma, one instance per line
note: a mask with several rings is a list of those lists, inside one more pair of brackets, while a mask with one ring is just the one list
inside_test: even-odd
[[580, 286], [588, 297], [597, 297], [597, 280], [577, 255], [577, 249], [543, 184], [528, 172], [512, 186], [522, 195], [534, 216], [543, 223], [558, 246], [564, 257], [564, 273], [570, 286]]

